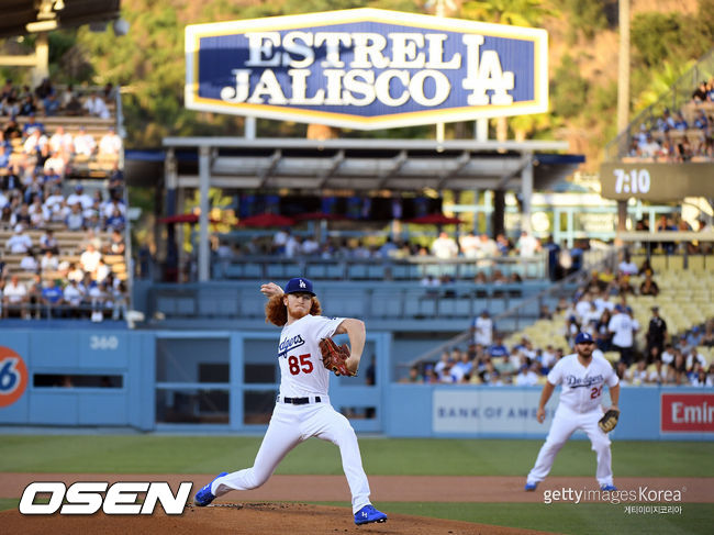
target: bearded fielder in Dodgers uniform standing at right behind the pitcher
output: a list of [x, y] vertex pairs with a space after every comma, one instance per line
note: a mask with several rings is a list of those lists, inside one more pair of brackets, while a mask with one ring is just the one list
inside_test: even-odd
[[617, 410], [620, 380], [607, 360], [593, 356], [594, 348], [592, 336], [588, 333], [579, 333], [576, 336], [576, 353], [558, 360], [548, 374], [536, 413], [538, 422], [543, 423], [546, 417], [546, 403], [556, 386], [562, 384], [562, 391], [546, 442], [526, 479], [526, 491], [534, 491], [546, 478], [556, 455], [570, 435], [579, 428], [588, 434], [592, 449], [598, 456], [595, 477], [600, 489], [617, 490], [612, 479], [610, 437], [598, 426], [598, 422], [603, 415], [601, 397], [605, 384], [610, 389], [611, 409]]

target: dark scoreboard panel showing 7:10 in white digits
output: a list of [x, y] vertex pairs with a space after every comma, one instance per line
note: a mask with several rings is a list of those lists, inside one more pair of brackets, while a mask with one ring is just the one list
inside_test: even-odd
[[602, 196], [626, 200], [674, 201], [684, 197], [714, 197], [714, 165], [700, 164], [603, 164]]

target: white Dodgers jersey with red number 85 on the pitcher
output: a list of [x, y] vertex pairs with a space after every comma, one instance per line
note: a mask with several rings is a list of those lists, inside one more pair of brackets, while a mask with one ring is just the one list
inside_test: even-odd
[[282, 327], [278, 345], [281, 397], [327, 395], [331, 371], [322, 364], [319, 344], [344, 320], [308, 314]]

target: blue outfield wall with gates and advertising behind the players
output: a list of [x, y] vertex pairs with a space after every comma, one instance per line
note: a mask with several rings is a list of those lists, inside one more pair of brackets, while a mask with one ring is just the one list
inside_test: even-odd
[[[0, 425], [261, 434], [278, 391], [274, 332], [0, 333]], [[394, 383], [391, 347], [391, 333], [369, 333], [359, 377], [332, 378], [357, 432], [545, 437], [557, 400], [538, 424], [540, 388]], [[625, 387], [620, 406], [615, 438], [714, 439], [714, 388]]]

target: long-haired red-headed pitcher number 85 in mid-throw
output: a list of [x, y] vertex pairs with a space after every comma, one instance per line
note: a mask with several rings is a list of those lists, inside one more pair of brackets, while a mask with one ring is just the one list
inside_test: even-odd
[[369, 501], [369, 483], [355, 431], [349, 421], [330, 404], [331, 371], [323, 366], [319, 347], [322, 338], [346, 333], [350, 356], [345, 364], [348, 370], [356, 372], [365, 347], [365, 324], [352, 317], [320, 315], [320, 301], [312, 282], [305, 278], [291, 279], [285, 292], [274, 282], [263, 285], [260, 291], [269, 298], [266, 320], [282, 326], [277, 352], [280, 392], [272, 417], [253, 467], [219, 475], [196, 493], [193, 502], [204, 506], [231, 490], [260, 487], [288, 452], [316, 436], [339, 447], [343, 470], [352, 492], [355, 524], [386, 522], [387, 515]]

